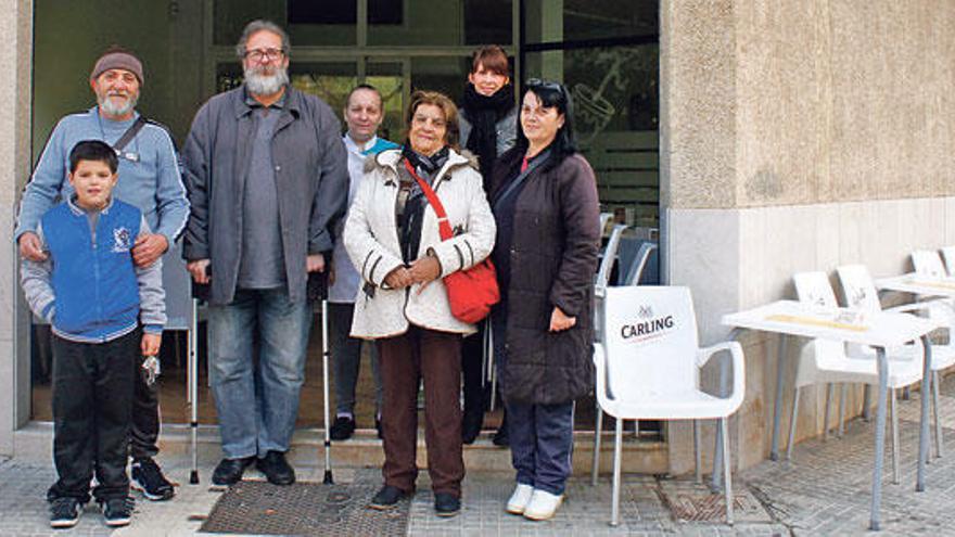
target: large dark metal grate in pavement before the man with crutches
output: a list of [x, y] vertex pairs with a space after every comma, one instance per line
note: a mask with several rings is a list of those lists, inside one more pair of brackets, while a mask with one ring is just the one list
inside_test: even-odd
[[380, 485], [243, 481], [216, 502], [201, 532], [257, 535], [405, 535], [410, 500], [391, 511], [368, 509]]

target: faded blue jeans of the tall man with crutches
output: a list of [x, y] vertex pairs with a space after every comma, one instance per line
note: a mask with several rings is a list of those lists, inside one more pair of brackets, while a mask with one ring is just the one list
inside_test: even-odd
[[230, 304], [209, 306], [209, 380], [227, 459], [289, 450], [310, 327], [310, 304], [290, 302], [284, 287], [240, 289]]

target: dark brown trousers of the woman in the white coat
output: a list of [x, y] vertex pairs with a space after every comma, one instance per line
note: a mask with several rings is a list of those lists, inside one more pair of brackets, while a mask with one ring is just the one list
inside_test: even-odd
[[435, 494], [460, 497], [464, 478], [461, 456], [461, 335], [411, 327], [379, 340], [384, 404], [385, 485], [415, 490], [418, 466], [418, 386], [424, 379], [424, 442], [428, 473]]

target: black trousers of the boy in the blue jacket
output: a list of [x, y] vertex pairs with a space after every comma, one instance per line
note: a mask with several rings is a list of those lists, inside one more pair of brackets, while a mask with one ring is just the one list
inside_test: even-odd
[[52, 500], [125, 497], [132, 391], [140, 365], [139, 330], [106, 343], [75, 343], [53, 336]]

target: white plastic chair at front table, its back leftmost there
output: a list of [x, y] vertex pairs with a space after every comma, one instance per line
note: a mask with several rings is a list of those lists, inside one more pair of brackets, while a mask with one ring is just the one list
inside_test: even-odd
[[[824, 308], [836, 308], [836, 293], [829, 284], [829, 277], [825, 272], [801, 272], [792, 277], [795, 284], [795, 294], [800, 302], [813, 304]], [[934, 348], [934, 347], [933, 347]], [[911, 386], [921, 380], [922, 361], [906, 354], [900, 358], [897, 355], [887, 355], [889, 363], [888, 386], [890, 394], [890, 410], [892, 412], [892, 480], [899, 482], [899, 417], [895, 409], [895, 391]], [[839, 427], [842, 431], [842, 418], [844, 415], [845, 383], [862, 383], [874, 386], [879, 385], [879, 371], [875, 360], [875, 354], [849, 356], [845, 353], [845, 344], [830, 340], [810, 340], [800, 350], [795, 373], [795, 394], [792, 401], [792, 414], [789, 421], [789, 445], [786, 448], [786, 458], [792, 457], [792, 445], [795, 439], [795, 422], [799, 417], [799, 396], [803, 387], [812, 384], [829, 383], [829, 392], [826, 397], [826, 413], [824, 429], [829, 431], [829, 401], [832, 396], [832, 383], [842, 383], [842, 394], [839, 401]]]

